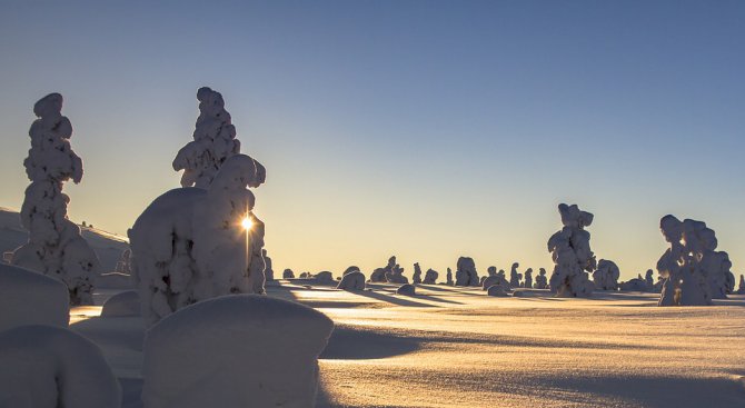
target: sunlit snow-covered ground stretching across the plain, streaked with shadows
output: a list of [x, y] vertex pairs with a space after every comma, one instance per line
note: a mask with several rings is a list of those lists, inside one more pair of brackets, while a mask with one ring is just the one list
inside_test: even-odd
[[[745, 296], [658, 308], [658, 295], [637, 292], [495, 298], [439, 285], [415, 296], [389, 283], [304, 285], [267, 289], [336, 325], [320, 357], [318, 407], [745, 406]], [[142, 321], [99, 314], [73, 308], [71, 328], [102, 348], [123, 407], [140, 407]]]

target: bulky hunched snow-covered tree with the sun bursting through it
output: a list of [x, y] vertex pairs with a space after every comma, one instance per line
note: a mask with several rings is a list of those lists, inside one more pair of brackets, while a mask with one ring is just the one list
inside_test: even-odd
[[149, 325], [200, 300], [264, 292], [264, 223], [247, 189], [264, 182], [260, 168], [248, 156], [232, 156], [208, 190], [170, 190], [137, 219], [129, 230], [132, 269]]

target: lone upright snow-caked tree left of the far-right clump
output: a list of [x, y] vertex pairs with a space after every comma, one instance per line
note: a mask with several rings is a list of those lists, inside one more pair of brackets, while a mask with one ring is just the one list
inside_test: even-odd
[[595, 255], [589, 249], [589, 232], [585, 227], [593, 223], [593, 215], [576, 205], [560, 203], [558, 210], [564, 228], [548, 239], [554, 261], [549, 288], [559, 297], [589, 297], [593, 282], [587, 272], [595, 270]]

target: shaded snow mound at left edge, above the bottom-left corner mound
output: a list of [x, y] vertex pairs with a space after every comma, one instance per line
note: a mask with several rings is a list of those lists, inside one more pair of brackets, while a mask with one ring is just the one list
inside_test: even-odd
[[67, 327], [69, 319], [70, 302], [64, 283], [0, 263], [0, 331], [27, 325]]

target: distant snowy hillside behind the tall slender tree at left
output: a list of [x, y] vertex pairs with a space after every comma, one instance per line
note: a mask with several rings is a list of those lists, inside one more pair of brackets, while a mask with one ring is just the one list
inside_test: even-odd
[[[95, 228], [81, 227], [82, 236], [93, 248], [101, 261], [103, 272], [115, 270], [121, 252], [129, 248], [127, 238]], [[12, 251], [29, 239], [29, 232], [21, 227], [17, 211], [0, 207], [0, 251]]]

